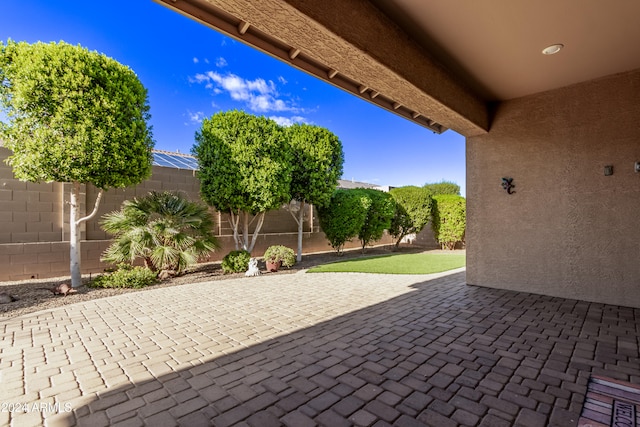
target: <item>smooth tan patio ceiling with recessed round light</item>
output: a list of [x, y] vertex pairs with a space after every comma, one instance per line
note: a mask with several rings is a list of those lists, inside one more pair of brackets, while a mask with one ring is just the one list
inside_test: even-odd
[[[637, 0], [372, 0], [487, 100], [640, 68]], [[555, 55], [546, 46], [564, 44]]]

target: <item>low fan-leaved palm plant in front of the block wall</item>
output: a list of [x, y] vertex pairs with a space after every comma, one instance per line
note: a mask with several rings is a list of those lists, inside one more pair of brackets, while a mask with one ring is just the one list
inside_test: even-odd
[[102, 228], [114, 236], [102, 260], [133, 264], [142, 258], [153, 271], [184, 271], [219, 248], [208, 208], [173, 192], [155, 192], [123, 203], [102, 217]]

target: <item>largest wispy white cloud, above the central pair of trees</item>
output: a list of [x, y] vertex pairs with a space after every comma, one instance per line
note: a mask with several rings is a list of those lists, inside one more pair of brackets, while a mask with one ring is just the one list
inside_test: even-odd
[[259, 113], [301, 111], [293, 101], [281, 99], [276, 84], [271, 80], [262, 78], [248, 80], [232, 73], [220, 74], [216, 71], [196, 74], [190, 80], [204, 84], [215, 95], [222, 92], [228, 93], [231, 99], [244, 103], [251, 111]]

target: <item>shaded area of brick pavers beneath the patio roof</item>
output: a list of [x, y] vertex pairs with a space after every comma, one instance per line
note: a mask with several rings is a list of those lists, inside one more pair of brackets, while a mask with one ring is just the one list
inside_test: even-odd
[[[612, 364], [619, 363], [614, 376], [640, 376], [634, 309], [468, 286], [464, 272], [414, 287], [234, 354], [110, 390], [66, 421], [93, 427], [378, 420], [571, 426], [591, 373], [612, 376]], [[621, 341], [633, 341], [636, 350], [618, 346]]]

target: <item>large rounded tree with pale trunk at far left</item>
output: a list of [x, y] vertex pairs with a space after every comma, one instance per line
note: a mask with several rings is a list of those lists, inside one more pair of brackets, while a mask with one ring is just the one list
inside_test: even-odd
[[[151, 174], [147, 91], [128, 67], [81, 46], [0, 42], [0, 137], [18, 179], [71, 183], [71, 282], [81, 285], [80, 224], [104, 190]], [[81, 184], [100, 189], [80, 218]]]

